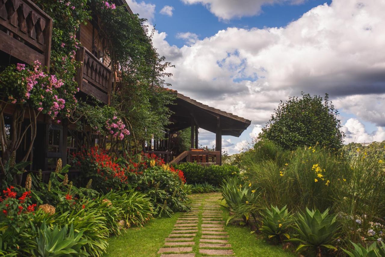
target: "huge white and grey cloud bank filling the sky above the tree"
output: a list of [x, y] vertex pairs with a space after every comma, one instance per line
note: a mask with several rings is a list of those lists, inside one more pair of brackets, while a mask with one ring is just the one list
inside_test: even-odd
[[385, 1], [333, 0], [286, 27], [231, 27], [181, 48], [160, 33], [154, 44], [176, 65], [174, 89], [253, 124], [304, 91], [327, 92], [339, 109], [384, 126], [384, 9]]

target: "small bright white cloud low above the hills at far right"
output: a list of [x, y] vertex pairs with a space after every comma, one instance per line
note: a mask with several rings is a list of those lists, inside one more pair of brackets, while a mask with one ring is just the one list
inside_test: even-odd
[[385, 130], [377, 127], [376, 131], [369, 134], [365, 129], [365, 125], [358, 119], [350, 118], [341, 127], [341, 131], [346, 134], [345, 143], [371, 143], [373, 141], [381, 142], [385, 140]]

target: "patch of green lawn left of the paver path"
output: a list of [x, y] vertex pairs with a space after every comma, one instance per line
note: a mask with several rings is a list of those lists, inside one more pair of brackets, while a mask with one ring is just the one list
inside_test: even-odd
[[163, 246], [164, 239], [172, 231], [178, 217], [179, 213], [172, 215], [171, 218], [154, 218], [144, 224], [142, 228], [132, 227], [122, 231], [121, 235], [108, 239], [109, 247], [105, 255], [113, 257], [159, 256], [157, 252]]

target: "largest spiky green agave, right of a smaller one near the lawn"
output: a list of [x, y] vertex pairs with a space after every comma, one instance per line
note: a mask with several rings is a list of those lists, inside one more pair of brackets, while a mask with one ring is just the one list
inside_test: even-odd
[[340, 227], [336, 222], [336, 215], [329, 215], [329, 209], [321, 213], [319, 210], [306, 208], [305, 213], [298, 213], [295, 225], [300, 238], [289, 241], [300, 243], [297, 251], [312, 247], [317, 250], [317, 257], [320, 257], [322, 247], [337, 250], [331, 244], [338, 238], [337, 231]]

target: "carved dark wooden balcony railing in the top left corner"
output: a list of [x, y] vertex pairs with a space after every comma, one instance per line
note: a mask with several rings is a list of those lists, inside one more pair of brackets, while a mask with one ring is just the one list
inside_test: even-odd
[[0, 0], [0, 50], [49, 68], [52, 18], [30, 0]]

